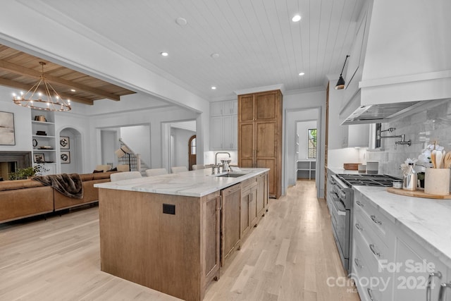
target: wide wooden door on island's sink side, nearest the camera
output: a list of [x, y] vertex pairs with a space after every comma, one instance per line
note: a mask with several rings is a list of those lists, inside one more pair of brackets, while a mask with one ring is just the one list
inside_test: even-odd
[[241, 184], [221, 191], [221, 266], [240, 247]]

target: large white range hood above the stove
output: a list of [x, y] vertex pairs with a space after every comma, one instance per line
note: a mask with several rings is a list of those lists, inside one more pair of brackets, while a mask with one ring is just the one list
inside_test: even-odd
[[449, 0], [367, 0], [347, 68], [342, 124], [390, 122], [451, 99]]

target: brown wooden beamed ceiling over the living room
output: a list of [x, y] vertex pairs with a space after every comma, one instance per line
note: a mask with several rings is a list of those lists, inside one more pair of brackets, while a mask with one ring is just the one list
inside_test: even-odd
[[[122, 95], [135, 93], [1, 44], [0, 85], [27, 92], [42, 74], [40, 61], [46, 63], [44, 66], [45, 78], [61, 97], [70, 99], [71, 102], [92, 105], [97, 99], [119, 101]], [[75, 92], [71, 90], [75, 90]]]

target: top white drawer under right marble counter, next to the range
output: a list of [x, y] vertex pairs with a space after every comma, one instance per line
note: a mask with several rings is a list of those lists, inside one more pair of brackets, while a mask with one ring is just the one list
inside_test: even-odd
[[[359, 196], [362, 196], [359, 194]], [[381, 211], [373, 207], [365, 197], [354, 198], [354, 212], [366, 216], [366, 221], [371, 225], [369, 228], [373, 229], [374, 233], [378, 235], [384, 242], [394, 242], [395, 235], [390, 228], [394, 224], [387, 219]], [[391, 245], [391, 244], [390, 244]]]

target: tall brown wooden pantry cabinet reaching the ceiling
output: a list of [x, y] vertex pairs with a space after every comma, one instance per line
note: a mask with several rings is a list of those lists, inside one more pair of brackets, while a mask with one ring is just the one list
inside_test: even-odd
[[269, 197], [282, 194], [282, 93], [238, 95], [238, 165], [270, 168]]

